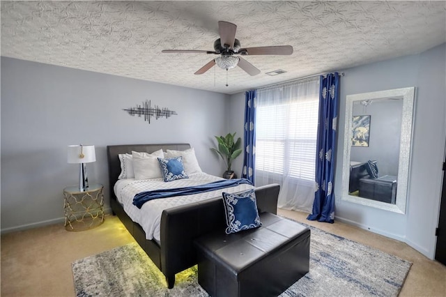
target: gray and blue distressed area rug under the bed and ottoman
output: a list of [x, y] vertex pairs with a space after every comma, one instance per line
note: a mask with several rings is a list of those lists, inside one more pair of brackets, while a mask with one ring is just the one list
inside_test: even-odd
[[[309, 273], [281, 296], [398, 296], [410, 262], [315, 227]], [[176, 274], [174, 289], [137, 245], [130, 243], [72, 264], [77, 296], [208, 296], [197, 266]]]

